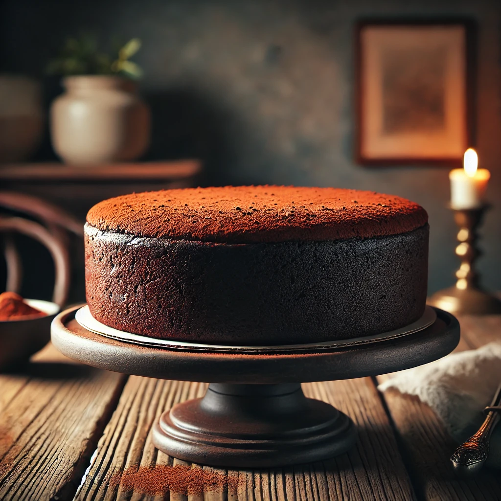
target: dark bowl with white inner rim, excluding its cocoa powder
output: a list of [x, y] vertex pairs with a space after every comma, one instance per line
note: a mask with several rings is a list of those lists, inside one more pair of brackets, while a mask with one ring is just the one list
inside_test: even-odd
[[0, 370], [27, 362], [51, 339], [51, 322], [61, 310], [59, 306], [38, 299], [25, 299], [25, 302], [46, 313], [46, 316], [0, 320]]

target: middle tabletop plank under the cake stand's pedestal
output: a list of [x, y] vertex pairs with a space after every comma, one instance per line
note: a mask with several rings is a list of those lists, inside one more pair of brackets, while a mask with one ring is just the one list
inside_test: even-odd
[[[303, 385], [356, 422], [359, 442], [329, 461], [263, 470], [221, 470], [172, 459], [153, 446], [151, 426], [161, 412], [201, 396], [206, 385], [131, 376], [98, 445], [97, 457], [76, 499], [160, 501], [331, 501], [414, 499], [388, 417], [371, 378]], [[194, 482], [214, 475], [202, 493], [188, 482], [169, 494], [173, 467]], [[181, 470], [178, 470], [181, 471]], [[176, 472], [174, 472], [176, 473]], [[207, 476], [209, 475], [209, 476]], [[175, 477], [179, 480], [179, 477]], [[162, 481], [164, 482], [162, 485]], [[190, 487], [191, 486], [191, 487]], [[176, 490], [177, 489], [177, 490]]]

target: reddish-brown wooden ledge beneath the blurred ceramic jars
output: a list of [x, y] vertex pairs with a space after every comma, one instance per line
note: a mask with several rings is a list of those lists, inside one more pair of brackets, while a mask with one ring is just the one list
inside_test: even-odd
[[199, 160], [117, 163], [108, 165], [65, 165], [62, 163], [5, 164], [0, 179], [5, 181], [103, 182], [124, 180], [175, 180], [200, 172]]

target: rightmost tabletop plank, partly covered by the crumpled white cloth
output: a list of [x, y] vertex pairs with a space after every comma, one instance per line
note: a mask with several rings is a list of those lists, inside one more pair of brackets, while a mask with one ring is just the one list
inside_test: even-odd
[[[462, 317], [461, 341], [457, 351], [478, 348], [501, 340], [501, 317]], [[384, 381], [386, 376], [379, 376]], [[398, 430], [418, 497], [427, 501], [499, 501], [501, 475], [485, 468], [471, 479], [457, 478], [449, 457], [457, 443], [443, 423], [417, 397], [389, 390], [384, 399]]]

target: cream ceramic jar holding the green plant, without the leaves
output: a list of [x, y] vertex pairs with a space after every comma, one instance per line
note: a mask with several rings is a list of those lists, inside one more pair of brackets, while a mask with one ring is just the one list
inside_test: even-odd
[[74, 165], [134, 160], [149, 144], [150, 113], [136, 83], [120, 77], [75, 76], [52, 104], [56, 153]]

